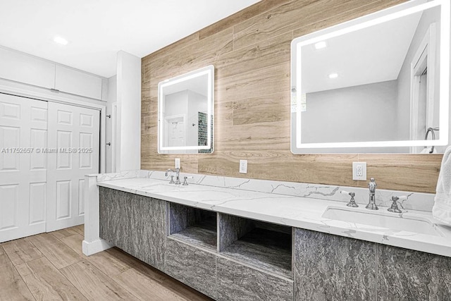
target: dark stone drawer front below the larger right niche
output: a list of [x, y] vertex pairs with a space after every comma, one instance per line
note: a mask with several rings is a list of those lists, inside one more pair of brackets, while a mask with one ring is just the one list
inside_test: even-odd
[[223, 257], [216, 259], [216, 300], [292, 300], [293, 281]]

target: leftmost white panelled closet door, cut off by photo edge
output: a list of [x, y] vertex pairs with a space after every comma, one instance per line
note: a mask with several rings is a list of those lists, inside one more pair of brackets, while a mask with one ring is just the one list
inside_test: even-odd
[[47, 102], [0, 94], [0, 242], [45, 232]]

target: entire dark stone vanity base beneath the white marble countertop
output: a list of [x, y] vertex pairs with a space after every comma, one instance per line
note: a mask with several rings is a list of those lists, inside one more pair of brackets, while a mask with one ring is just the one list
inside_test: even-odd
[[99, 187], [111, 245], [216, 300], [450, 300], [451, 258]]

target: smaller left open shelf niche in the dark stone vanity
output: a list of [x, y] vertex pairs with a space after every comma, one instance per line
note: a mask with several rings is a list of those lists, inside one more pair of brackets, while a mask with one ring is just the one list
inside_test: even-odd
[[169, 237], [216, 252], [216, 212], [169, 203]]

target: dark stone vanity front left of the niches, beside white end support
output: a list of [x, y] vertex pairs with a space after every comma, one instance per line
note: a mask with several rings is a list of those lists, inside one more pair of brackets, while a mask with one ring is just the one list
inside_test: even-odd
[[166, 201], [99, 187], [100, 237], [164, 271]]

